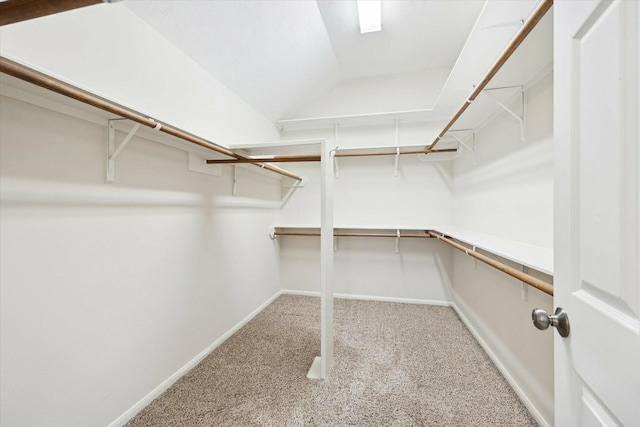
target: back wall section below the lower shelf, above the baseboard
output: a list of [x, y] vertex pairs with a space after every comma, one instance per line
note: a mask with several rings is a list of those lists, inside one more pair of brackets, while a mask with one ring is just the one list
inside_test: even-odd
[[[319, 238], [283, 236], [278, 245], [283, 289], [319, 292]], [[336, 246], [336, 294], [444, 305], [451, 300], [452, 254], [434, 239], [401, 239], [397, 254], [395, 239], [386, 237], [340, 237]]]

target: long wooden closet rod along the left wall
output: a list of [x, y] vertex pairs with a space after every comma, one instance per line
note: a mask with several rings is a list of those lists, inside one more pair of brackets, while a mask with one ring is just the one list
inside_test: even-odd
[[[18, 79], [24, 80], [26, 82], [32, 83], [36, 86], [40, 86], [42, 88], [51, 90], [53, 92], [57, 92], [61, 95], [68, 96], [69, 98], [75, 99], [85, 104], [92, 105], [96, 108], [118, 115], [120, 117], [124, 117], [136, 123], [140, 123], [142, 125], [150, 127], [152, 129], [156, 129], [166, 134], [175, 136], [176, 138], [180, 138], [192, 144], [196, 144], [201, 147], [207, 148], [209, 150], [215, 151], [217, 153], [224, 154], [225, 156], [234, 157], [237, 160], [250, 160], [246, 156], [243, 156], [238, 153], [234, 153], [231, 150], [228, 150], [224, 147], [216, 145], [200, 137], [187, 133], [171, 125], [156, 122], [155, 120], [147, 117], [142, 113], [131, 110], [127, 107], [123, 107], [122, 105], [118, 105], [112, 101], [109, 101], [108, 99], [101, 98], [95, 94], [79, 89], [68, 83], [54, 79], [53, 77], [49, 77], [45, 74], [35, 71], [29, 67], [25, 67], [24, 65], [18, 64], [17, 62], [11, 61], [7, 58], [0, 57], [0, 72], [16, 77]], [[280, 168], [277, 168], [275, 166], [271, 166], [266, 163], [256, 163], [253, 160], [249, 161], [248, 163], [253, 163], [256, 166], [270, 170], [271, 172], [284, 175], [286, 177], [295, 179], [297, 181], [302, 181], [302, 178], [300, 178], [299, 176], [294, 175], [285, 170], [282, 170]]]

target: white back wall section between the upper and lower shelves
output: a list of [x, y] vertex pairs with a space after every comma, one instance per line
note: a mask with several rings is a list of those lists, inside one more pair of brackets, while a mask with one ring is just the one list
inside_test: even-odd
[[[434, 132], [431, 125], [400, 125], [400, 144], [427, 145]], [[284, 139], [327, 138], [333, 130], [286, 132]], [[393, 146], [393, 124], [339, 129], [341, 149]], [[425, 142], [429, 141], [429, 142]], [[393, 151], [393, 148], [391, 149]], [[417, 155], [404, 155], [395, 176], [395, 156], [338, 158], [334, 181], [334, 221], [345, 225], [426, 227], [450, 224], [452, 218], [452, 162], [421, 162]], [[309, 185], [296, 190], [283, 207], [283, 224], [319, 224], [320, 184], [316, 163], [287, 164], [287, 169], [309, 177]]]

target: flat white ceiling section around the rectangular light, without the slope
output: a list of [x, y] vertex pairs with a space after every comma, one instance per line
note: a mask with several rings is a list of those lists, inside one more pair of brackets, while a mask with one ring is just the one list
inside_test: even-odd
[[453, 67], [483, 1], [383, 1], [382, 31], [360, 34], [355, 1], [318, 1], [343, 78]]

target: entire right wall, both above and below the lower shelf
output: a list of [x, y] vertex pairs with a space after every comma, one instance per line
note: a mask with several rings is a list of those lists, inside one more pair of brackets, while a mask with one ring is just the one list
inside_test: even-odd
[[[514, 110], [518, 108], [513, 106]], [[477, 160], [466, 153], [453, 168], [456, 226], [553, 248], [553, 81], [549, 74], [526, 94], [526, 142], [518, 123], [501, 113], [477, 135]], [[515, 268], [521, 268], [501, 260]], [[477, 265], [476, 265], [477, 264]], [[553, 298], [456, 251], [453, 302], [512, 385], [553, 424], [553, 333], [531, 324], [536, 307], [553, 311]], [[552, 283], [553, 278], [527, 272]]]

